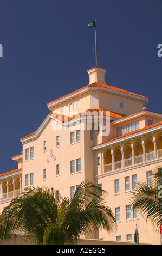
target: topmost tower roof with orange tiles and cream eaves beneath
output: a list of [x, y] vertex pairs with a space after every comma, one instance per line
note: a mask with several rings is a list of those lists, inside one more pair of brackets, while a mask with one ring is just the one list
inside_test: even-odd
[[129, 96], [134, 96], [134, 97], [140, 97], [142, 100], [145, 101], [145, 104], [147, 103], [148, 101], [148, 97], [145, 97], [145, 96], [142, 96], [142, 95], [139, 95], [139, 94], [136, 94], [136, 93], [132, 93], [132, 92], [128, 92], [127, 90], [123, 90], [123, 89], [120, 89], [118, 87], [114, 87], [114, 86], [109, 86], [108, 84], [103, 84], [103, 83], [98, 83], [98, 82], [94, 82], [92, 84], [88, 84], [87, 86], [85, 87], [82, 87], [78, 90], [75, 90], [74, 92], [72, 93], [69, 93], [67, 95], [64, 95], [62, 97], [60, 97], [59, 99], [56, 99], [56, 100], [53, 100], [53, 101], [50, 101], [49, 103], [47, 103], [47, 106], [48, 108], [51, 110], [51, 107], [55, 105], [55, 103], [61, 101], [61, 100], [64, 100], [64, 99], [67, 99], [68, 97], [71, 97], [73, 95], [76, 95], [76, 94], [79, 94], [79, 93], [82, 93], [82, 92], [85, 92], [86, 90], [89, 90], [89, 89], [93, 89], [93, 88], [105, 88], [107, 90], [109, 90], [110, 92], [119, 92], [121, 94], [127, 94]]

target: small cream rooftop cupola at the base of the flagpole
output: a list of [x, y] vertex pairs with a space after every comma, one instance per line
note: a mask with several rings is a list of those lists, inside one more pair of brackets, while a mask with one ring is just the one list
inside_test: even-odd
[[94, 82], [106, 84], [105, 82], [106, 71], [107, 71], [106, 69], [99, 68], [98, 66], [95, 66], [95, 68], [87, 70], [89, 75], [89, 84]]

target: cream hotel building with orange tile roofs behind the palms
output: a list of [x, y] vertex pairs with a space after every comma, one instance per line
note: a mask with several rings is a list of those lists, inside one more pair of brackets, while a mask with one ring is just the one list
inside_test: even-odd
[[47, 104], [50, 113], [12, 157], [18, 169], [0, 175], [0, 211], [26, 186], [53, 187], [70, 198], [88, 179], [109, 193], [118, 230], [87, 238], [134, 242], [137, 223], [140, 243], [160, 245], [158, 231], [130, 209], [129, 192], [162, 164], [162, 114], [144, 108], [147, 97], [108, 86], [105, 74], [88, 70], [87, 86]]

